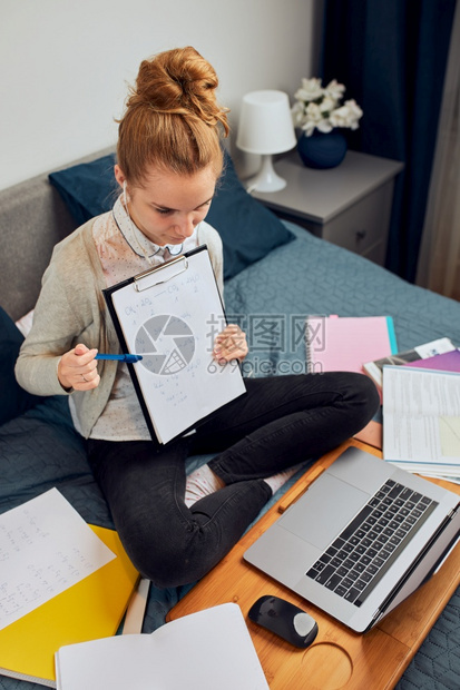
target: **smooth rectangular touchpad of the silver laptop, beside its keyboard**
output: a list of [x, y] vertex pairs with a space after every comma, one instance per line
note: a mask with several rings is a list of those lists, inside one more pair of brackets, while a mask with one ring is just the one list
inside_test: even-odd
[[277, 524], [323, 550], [368, 502], [369, 495], [331, 474], [323, 474]]

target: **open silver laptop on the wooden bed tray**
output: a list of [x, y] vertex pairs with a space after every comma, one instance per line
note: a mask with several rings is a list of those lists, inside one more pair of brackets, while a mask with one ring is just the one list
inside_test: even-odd
[[459, 501], [349, 447], [244, 558], [365, 632], [442, 564], [459, 539]]

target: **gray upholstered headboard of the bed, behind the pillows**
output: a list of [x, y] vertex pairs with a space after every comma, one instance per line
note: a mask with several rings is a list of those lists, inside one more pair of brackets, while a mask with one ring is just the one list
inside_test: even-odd
[[[62, 168], [112, 150], [97, 151]], [[16, 321], [33, 308], [52, 247], [75, 228], [76, 223], [48, 181], [48, 172], [0, 190], [0, 306], [11, 318]]]

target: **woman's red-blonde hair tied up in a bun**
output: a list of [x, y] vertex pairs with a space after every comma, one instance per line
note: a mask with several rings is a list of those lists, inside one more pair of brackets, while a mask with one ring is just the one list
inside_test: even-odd
[[158, 53], [140, 63], [126, 112], [118, 120], [117, 158], [136, 186], [150, 166], [193, 175], [223, 166], [222, 136], [228, 135], [227, 109], [216, 101], [217, 75], [194, 48]]

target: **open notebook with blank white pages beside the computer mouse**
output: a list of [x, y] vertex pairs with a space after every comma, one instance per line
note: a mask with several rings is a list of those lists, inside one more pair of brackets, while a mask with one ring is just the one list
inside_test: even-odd
[[268, 690], [235, 603], [184, 615], [151, 634], [62, 647], [56, 678], [58, 690]]

